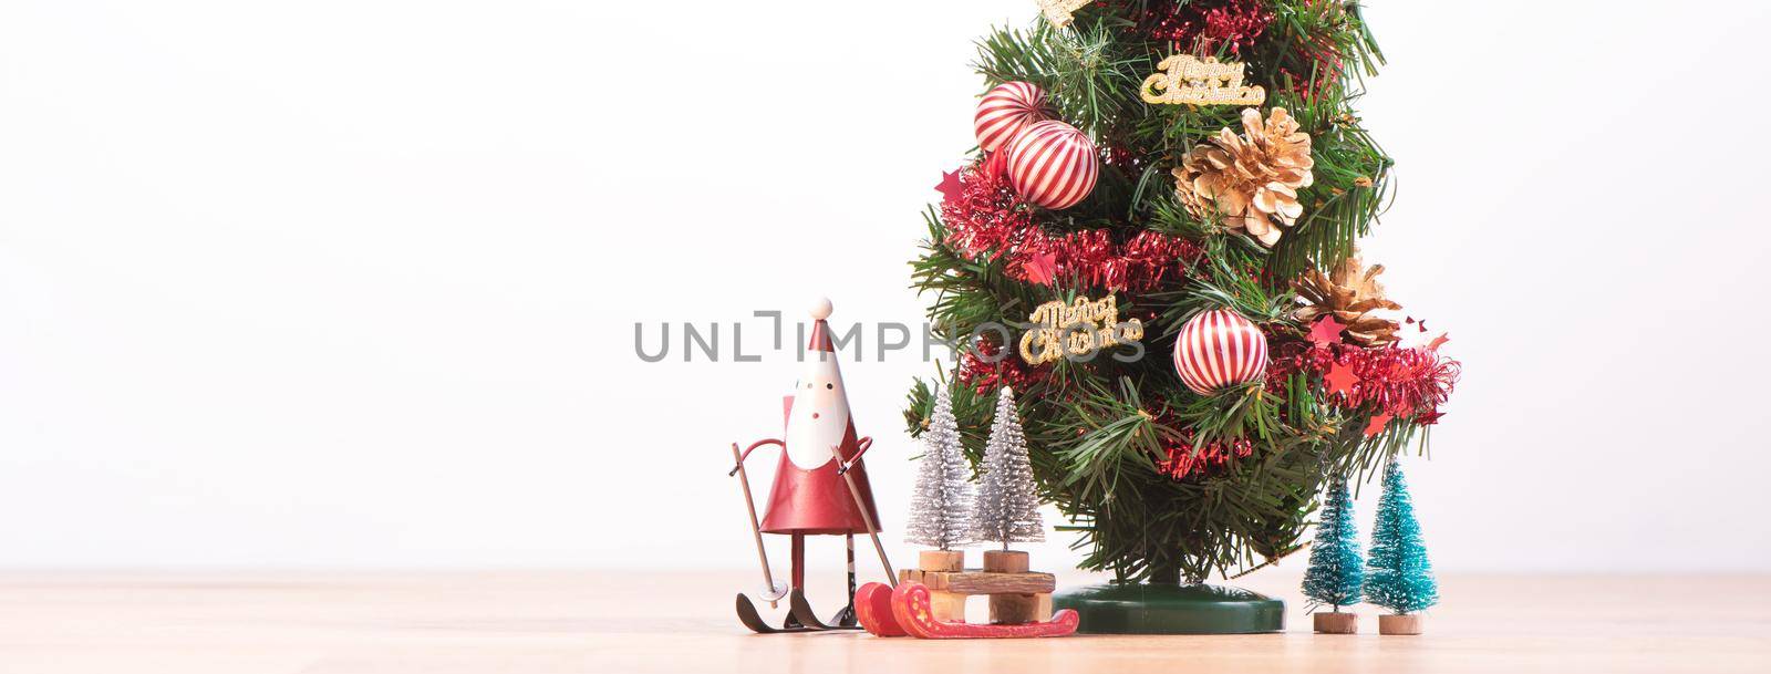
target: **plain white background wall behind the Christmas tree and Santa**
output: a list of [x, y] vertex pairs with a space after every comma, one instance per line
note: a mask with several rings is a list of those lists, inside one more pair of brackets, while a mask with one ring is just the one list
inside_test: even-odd
[[[1436, 564], [1771, 570], [1771, 9], [1371, 5], [1367, 257], [1466, 363]], [[0, 566], [751, 564], [726, 444], [797, 377], [751, 311], [919, 320], [969, 41], [1032, 14], [0, 5]], [[641, 363], [666, 320], [726, 361]], [[845, 363], [889, 527], [932, 371]]]

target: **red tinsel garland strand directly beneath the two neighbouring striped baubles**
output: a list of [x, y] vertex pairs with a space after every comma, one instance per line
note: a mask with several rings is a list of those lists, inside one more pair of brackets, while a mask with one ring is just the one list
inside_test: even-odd
[[1118, 244], [1107, 230], [1052, 235], [990, 161], [960, 173], [958, 198], [940, 203], [947, 246], [967, 258], [1008, 257], [1006, 272], [1024, 283], [1079, 280], [1110, 290], [1149, 290], [1183, 274], [1204, 251], [1192, 241], [1139, 232]]

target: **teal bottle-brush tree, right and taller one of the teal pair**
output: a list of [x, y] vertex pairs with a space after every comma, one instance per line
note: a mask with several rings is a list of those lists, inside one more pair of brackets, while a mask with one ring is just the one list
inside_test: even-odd
[[1371, 527], [1365, 578], [1365, 598], [1397, 614], [1438, 603], [1433, 563], [1420, 541], [1420, 522], [1415, 522], [1415, 504], [1408, 499], [1408, 483], [1397, 462], [1383, 469], [1383, 497], [1378, 499], [1378, 522]]

